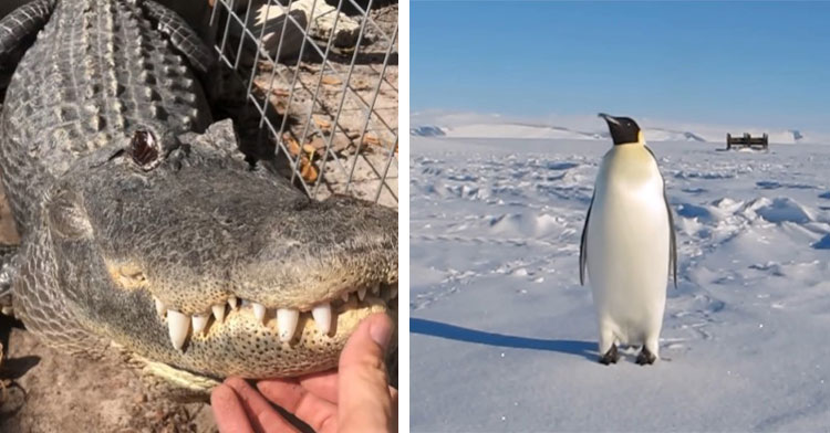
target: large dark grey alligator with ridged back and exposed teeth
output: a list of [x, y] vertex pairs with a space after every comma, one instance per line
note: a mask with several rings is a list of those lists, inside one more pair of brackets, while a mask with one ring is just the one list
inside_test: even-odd
[[52, 347], [203, 393], [330, 369], [397, 305], [397, 212], [312, 200], [246, 159], [211, 119], [212, 57], [149, 0], [35, 0], [0, 20], [21, 233], [4, 309]]

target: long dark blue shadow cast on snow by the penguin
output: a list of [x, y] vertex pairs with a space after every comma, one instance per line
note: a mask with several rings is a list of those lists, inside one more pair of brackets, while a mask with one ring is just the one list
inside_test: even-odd
[[548, 350], [596, 360], [596, 342], [593, 341], [543, 340], [539, 338], [509, 336], [418, 318], [409, 318], [409, 332], [487, 346]]

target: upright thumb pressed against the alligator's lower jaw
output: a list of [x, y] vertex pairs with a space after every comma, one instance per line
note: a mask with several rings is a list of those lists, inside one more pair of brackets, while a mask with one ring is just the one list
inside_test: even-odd
[[384, 356], [392, 337], [384, 314], [365, 318], [340, 355], [338, 425], [340, 432], [392, 431], [392, 398]]

